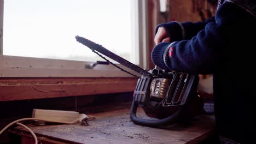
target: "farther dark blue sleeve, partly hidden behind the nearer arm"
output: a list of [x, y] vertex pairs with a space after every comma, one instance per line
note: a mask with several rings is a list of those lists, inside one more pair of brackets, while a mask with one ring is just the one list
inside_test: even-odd
[[158, 31], [159, 27], [164, 27], [167, 35], [170, 37], [170, 42], [183, 40], [183, 39], [191, 39], [194, 37], [199, 31], [205, 28], [206, 24], [209, 22], [214, 22], [215, 18], [211, 17], [206, 21], [199, 22], [184, 22], [179, 23], [177, 21], [171, 21], [167, 23], [160, 23], [155, 28], [155, 33]]

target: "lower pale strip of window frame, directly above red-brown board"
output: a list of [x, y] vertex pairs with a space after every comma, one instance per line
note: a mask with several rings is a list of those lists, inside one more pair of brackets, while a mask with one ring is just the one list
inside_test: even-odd
[[[134, 71], [131, 71], [131, 73], [135, 74]], [[132, 76], [121, 70], [1, 67], [0, 65], [0, 78], [2, 77], [132, 77]]]

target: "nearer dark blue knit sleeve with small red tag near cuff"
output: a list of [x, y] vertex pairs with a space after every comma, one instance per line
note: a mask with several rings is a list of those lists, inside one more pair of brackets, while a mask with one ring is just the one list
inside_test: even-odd
[[190, 40], [156, 45], [152, 51], [152, 61], [162, 69], [193, 74], [212, 74], [219, 61], [222, 41], [217, 23], [210, 22]]

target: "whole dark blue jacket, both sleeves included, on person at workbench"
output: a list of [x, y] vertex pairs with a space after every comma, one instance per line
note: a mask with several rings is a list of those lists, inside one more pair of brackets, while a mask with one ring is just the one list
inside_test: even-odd
[[160, 26], [172, 41], [154, 47], [153, 63], [162, 69], [213, 74], [218, 134], [238, 143], [256, 143], [255, 15], [224, 2], [205, 22]]

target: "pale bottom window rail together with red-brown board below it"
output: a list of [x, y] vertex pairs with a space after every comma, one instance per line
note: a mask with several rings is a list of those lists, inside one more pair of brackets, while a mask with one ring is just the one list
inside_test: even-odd
[[113, 65], [87, 69], [88, 62], [16, 56], [0, 62], [0, 101], [133, 92], [137, 83]]

